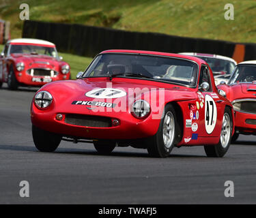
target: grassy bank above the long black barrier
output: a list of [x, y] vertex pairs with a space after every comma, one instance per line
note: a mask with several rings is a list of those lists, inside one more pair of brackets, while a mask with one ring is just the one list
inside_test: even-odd
[[[12, 37], [21, 34], [20, 3], [29, 4], [31, 20], [256, 43], [255, 0], [0, 0]], [[233, 3], [235, 20], [225, 20], [226, 3]]]

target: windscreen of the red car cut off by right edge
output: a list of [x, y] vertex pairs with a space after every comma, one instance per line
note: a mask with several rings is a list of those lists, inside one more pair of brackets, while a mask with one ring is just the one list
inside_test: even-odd
[[238, 65], [228, 84], [256, 81], [256, 65]]

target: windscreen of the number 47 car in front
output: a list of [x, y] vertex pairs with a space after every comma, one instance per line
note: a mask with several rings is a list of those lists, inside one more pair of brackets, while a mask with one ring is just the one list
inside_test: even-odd
[[186, 59], [154, 55], [98, 55], [83, 77], [135, 74], [154, 80], [175, 82], [194, 87], [197, 82], [197, 63]]

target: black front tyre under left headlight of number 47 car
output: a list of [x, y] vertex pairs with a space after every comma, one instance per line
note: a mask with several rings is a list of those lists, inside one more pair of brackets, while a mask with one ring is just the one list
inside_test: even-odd
[[61, 136], [39, 129], [34, 125], [32, 125], [32, 135], [35, 147], [43, 152], [55, 151], [61, 142]]

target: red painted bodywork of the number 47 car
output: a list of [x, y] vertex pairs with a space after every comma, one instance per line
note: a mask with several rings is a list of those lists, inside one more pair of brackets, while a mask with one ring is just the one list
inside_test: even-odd
[[[178, 57], [181, 59], [188, 59], [195, 61], [199, 65], [207, 65], [205, 61], [198, 59], [197, 57], [190, 57], [185, 55], [177, 55], [163, 52], [150, 52], [140, 50], [106, 50], [104, 53], [124, 53], [124, 54], [147, 54], [158, 55], [165, 57]], [[209, 67], [210, 69], [210, 67]], [[214, 78], [212, 72], [210, 72], [212, 81], [212, 92], [202, 92], [203, 98], [205, 95], [214, 95], [214, 102], [216, 103], [217, 116], [216, 126], [211, 134], [208, 134], [205, 130], [205, 107], [200, 106], [197, 108], [197, 102], [199, 100], [198, 81], [197, 87], [189, 88], [182, 85], [170, 84], [167, 82], [160, 82], [157, 80], [148, 80], [145, 78], [113, 78], [111, 81], [108, 77], [98, 78], [83, 78], [72, 81], [57, 81], [44, 85], [39, 91], [48, 91], [53, 95], [53, 103], [45, 110], [38, 109], [34, 100], [31, 104], [31, 122], [33, 125], [40, 127], [46, 131], [52, 131], [57, 134], [73, 136], [77, 138], [89, 138], [89, 139], [117, 139], [117, 140], [129, 140], [138, 138], [147, 138], [154, 136], [160, 124], [160, 119], [152, 119], [154, 112], [150, 112], [150, 115], [145, 119], [135, 118], [130, 108], [133, 102], [128, 102], [128, 96], [120, 97], [120, 101], [123, 99], [127, 102], [126, 112], [97, 112], [89, 110], [86, 106], [72, 104], [73, 101], [92, 101], [91, 97], [85, 96], [85, 93], [95, 88], [105, 88], [106, 83], [111, 83], [111, 87], [115, 89], [123, 89], [128, 93], [128, 89], [143, 88], [156, 89], [159, 93], [161, 88], [165, 89], [165, 102], [159, 106], [160, 114], [162, 114], [165, 105], [172, 102], [180, 109], [182, 116], [182, 140], [177, 146], [195, 146], [203, 144], [217, 144], [221, 136], [221, 126], [223, 121], [223, 114], [226, 106], [231, 108], [233, 114], [233, 108], [231, 103], [223, 96], [218, 94], [216, 86], [214, 84]], [[199, 78], [199, 76], [198, 76]], [[197, 79], [198, 79], [197, 78]], [[147, 95], [147, 92], [141, 91], [141, 96]], [[158, 95], [157, 95], [158, 96]], [[105, 102], [106, 99], [100, 99], [101, 102]], [[159, 99], [156, 100], [158, 105]], [[199, 104], [199, 103], [198, 103]], [[186, 127], [186, 119], [190, 119], [190, 112], [199, 111], [199, 118], [195, 119], [198, 129], [193, 131], [191, 127]], [[55, 119], [56, 114], [63, 114], [63, 119], [57, 121]], [[79, 125], [70, 125], [65, 123], [66, 114], [87, 114], [91, 116], [104, 116], [110, 117], [112, 120], [117, 119], [119, 125], [116, 127], [82, 127]], [[197, 134], [197, 139], [191, 140], [193, 134]], [[190, 140], [186, 140], [190, 138]]]

